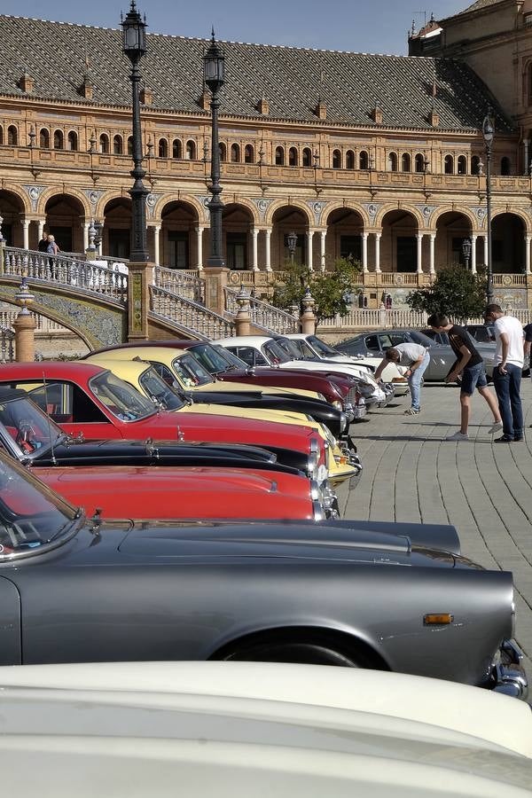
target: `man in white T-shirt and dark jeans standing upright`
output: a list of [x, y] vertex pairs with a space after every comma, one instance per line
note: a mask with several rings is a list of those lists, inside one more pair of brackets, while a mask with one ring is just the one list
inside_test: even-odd
[[519, 319], [505, 316], [500, 305], [486, 308], [485, 320], [495, 328], [497, 344], [493, 362], [493, 384], [503, 418], [503, 435], [497, 443], [523, 440], [523, 410], [520, 401], [520, 378], [523, 367], [523, 328]]

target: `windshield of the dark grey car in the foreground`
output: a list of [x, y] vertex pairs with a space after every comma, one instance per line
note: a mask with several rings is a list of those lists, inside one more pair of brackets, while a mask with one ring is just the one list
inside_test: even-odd
[[72, 505], [0, 451], [0, 562], [68, 536], [79, 517]]

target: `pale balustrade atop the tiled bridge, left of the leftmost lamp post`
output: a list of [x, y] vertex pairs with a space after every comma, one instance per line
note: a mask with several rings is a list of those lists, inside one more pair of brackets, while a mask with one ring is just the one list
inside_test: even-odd
[[[105, 265], [104, 265], [105, 264]], [[119, 268], [121, 269], [119, 271]], [[66, 288], [82, 288], [125, 303], [128, 299], [127, 267], [107, 261], [82, 261], [65, 255], [50, 255], [15, 246], [4, 248], [4, 274], [41, 280]]]

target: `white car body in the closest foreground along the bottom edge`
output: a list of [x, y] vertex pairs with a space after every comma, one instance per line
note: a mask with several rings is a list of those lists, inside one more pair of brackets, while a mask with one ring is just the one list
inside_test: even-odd
[[528, 704], [369, 670], [255, 662], [0, 669], [16, 798], [519, 798]]

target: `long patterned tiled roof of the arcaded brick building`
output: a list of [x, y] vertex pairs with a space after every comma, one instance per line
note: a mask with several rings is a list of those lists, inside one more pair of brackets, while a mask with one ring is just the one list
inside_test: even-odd
[[[93, 101], [130, 104], [129, 61], [121, 52], [120, 30], [0, 16], [0, 42], [0, 94], [22, 96], [20, 76], [27, 71], [35, 81], [32, 97], [85, 103], [78, 89], [88, 55]], [[440, 129], [478, 129], [488, 106], [497, 108], [486, 86], [460, 61], [222, 45], [223, 115], [261, 118], [256, 105], [264, 96], [270, 118], [317, 123], [314, 111], [321, 96], [327, 107], [325, 123], [372, 125], [377, 103], [383, 125], [426, 129], [434, 103]], [[141, 72], [153, 91], [153, 108], [207, 113], [198, 105], [206, 46], [204, 39], [148, 35]], [[512, 130], [500, 109], [497, 115], [497, 129]]]

